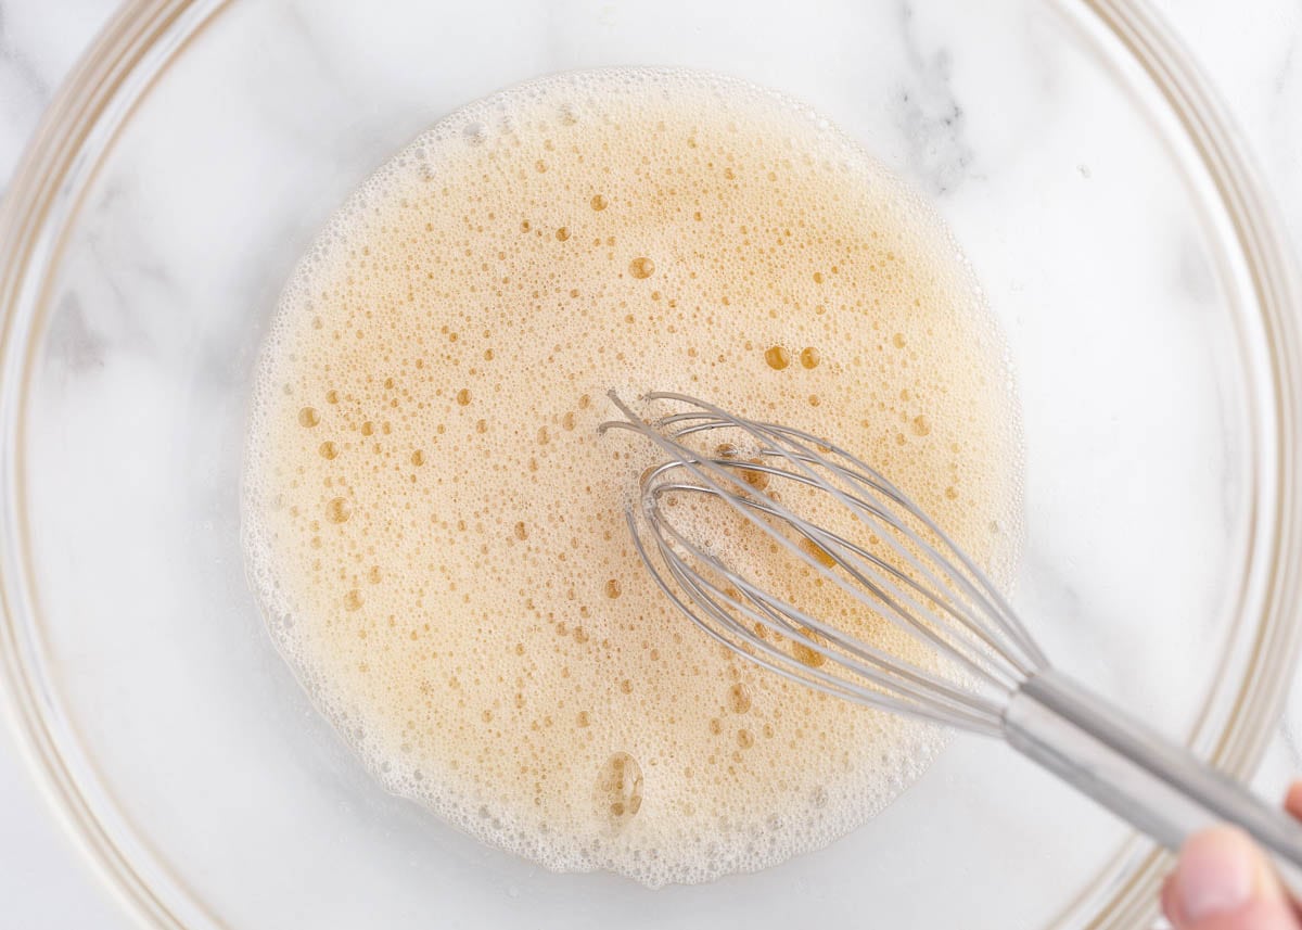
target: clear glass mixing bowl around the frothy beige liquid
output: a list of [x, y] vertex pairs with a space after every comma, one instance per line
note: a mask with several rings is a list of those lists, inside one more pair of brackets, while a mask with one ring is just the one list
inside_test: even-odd
[[780, 867], [553, 875], [384, 795], [243, 578], [249, 375], [326, 216], [516, 81], [685, 65], [803, 98], [930, 193], [1026, 431], [1016, 600], [1051, 656], [1236, 774], [1298, 633], [1298, 290], [1185, 56], [1120, 0], [138, 0], [0, 225], [0, 660], [34, 770], [156, 927], [1137, 926], [1144, 841], [957, 739]]

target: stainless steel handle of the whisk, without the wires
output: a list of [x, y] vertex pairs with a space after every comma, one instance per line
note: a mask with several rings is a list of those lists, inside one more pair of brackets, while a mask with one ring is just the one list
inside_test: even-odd
[[1302, 891], [1302, 826], [1072, 679], [1046, 669], [1004, 714], [1009, 745], [1168, 849], [1213, 823], [1247, 831]]

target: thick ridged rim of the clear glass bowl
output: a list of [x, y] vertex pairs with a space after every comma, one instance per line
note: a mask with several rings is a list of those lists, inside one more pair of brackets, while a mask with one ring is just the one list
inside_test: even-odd
[[[44, 313], [46, 272], [57, 262], [81, 195], [137, 103], [177, 53], [232, 0], [128, 0], [60, 86], [0, 204], [0, 705], [26, 767], [82, 858], [145, 926], [224, 923], [138, 838], [78, 758], [77, 737], [42, 673], [38, 615], [22, 517], [21, 401], [29, 339]], [[1178, 121], [1215, 189], [1262, 310], [1273, 438], [1256, 448], [1276, 478], [1273, 522], [1255, 543], [1267, 555], [1302, 551], [1302, 279], [1282, 224], [1226, 107], [1147, 0], [1059, 0], [1091, 17], [1129, 52]], [[1258, 501], [1260, 503], [1260, 501]], [[1267, 517], [1269, 518], [1269, 517]], [[1262, 534], [1258, 534], [1262, 537]], [[1302, 642], [1302, 560], [1262, 568], [1260, 623], [1237, 699], [1224, 720], [1204, 712], [1195, 742], [1219, 768], [1249, 775], [1264, 752]], [[1220, 732], [1206, 732], [1219, 727]], [[1126, 841], [1053, 926], [1096, 909], [1091, 927], [1129, 927], [1156, 913], [1164, 853]], [[1075, 926], [1078, 923], [1073, 923]]]

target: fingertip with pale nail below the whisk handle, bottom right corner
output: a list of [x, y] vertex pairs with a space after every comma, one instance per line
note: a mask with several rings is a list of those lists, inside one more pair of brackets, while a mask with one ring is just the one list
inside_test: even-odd
[[1236, 827], [1185, 843], [1163, 909], [1176, 930], [1302, 930], [1271, 864]]

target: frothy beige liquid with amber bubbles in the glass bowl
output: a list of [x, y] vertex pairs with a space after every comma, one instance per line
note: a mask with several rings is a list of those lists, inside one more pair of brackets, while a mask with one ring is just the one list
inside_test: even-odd
[[276, 642], [388, 788], [546, 866], [820, 847], [941, 737], [673, 611], [622, 517], [654, 452], [596, 435], [612, 387], [836, 438], [1006, 569], [1008, 371], [936, 216], [790, 102], [600, 72], [422, 135], [285, 290], [245, 514]]

